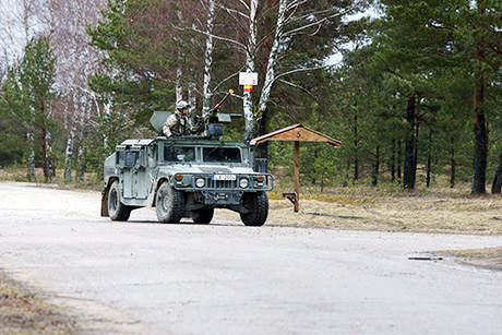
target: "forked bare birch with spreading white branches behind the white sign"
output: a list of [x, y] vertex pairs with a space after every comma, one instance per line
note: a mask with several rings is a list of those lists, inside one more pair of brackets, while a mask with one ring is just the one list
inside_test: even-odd
[[[247, 39], [220, 39], [228, 40], [244, 55], [244, 72], [255, 72], [256, 62], [259, 61], [266, 63], [265, 72], [260, 73], [260, 76], [263, 77], [263, 84], [261, 85], [258, 101], [253, 100], [251, 92], [244, 92], [242, 96], [246, 120], [244, 141], [250, 141], [253, 136], [258, 135], [258, 124], [263, 120], [267, 105], [270, 104], [273, 85], [277, 80], [280, 79], [292, 87], [301, 88], [301, 85], [288, 82], [287, 77], [297, 72], [307, 72], [323, 68], [321, 64], [322, 60], [319, 60], [319, 64], [314, 67], [308, 65], [308, 62], [287, 64], [284, 62], [284, 57], [280, 56], [282, 52], [290, 52], [295, 40], [299, 38], [312, 39], [326, 26], [330, 26], [334, 31], [333, 27], [340, 23], [343, 15], [360, 10], [362, 3], [362, 1], [349, 1], [344, 7], [337, 7], [330, 1], [306, 0], [278, 0], [274, 3], [270, 1], [242, 0], [237, 5], [234, 3], [224, 3], [228, 15], [238, 22], [236, 24], [237, 29], [246, 27], [243, 33]], [[272, 12], [275, 13], [274, 16], [276, 17], [275, 24], [271, 29], [274, 37], [270, 49], [264, 50], [264, 41], [270, 38], [266, 31], [258, 29], [258, 27], [265, 20], [265, 16], [271, 15]], [[247, 22], [247, 25], [243, 22]], [[259, 33], [261, 36], [259, 36]], [[236, 34], [236, 36], [241, 35]], [[330, 44], [326, 44], [324, 47], [327, 46]], [[259, 55], [263, 55], [264, 60], [259, 59]], [[278, 68], [280, 68], [279, 72], [277, 72]]]

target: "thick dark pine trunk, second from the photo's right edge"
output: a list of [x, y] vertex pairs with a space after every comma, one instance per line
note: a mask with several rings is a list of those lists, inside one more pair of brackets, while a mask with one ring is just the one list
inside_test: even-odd
[[[483, 51], [479, 51], [477, 59], [483, 58]], [[485, 80], [481, 75], [476, 75], [474, 93], [474, 177], [470, 192], [474, 194], [485, 194], [487, 181], [487, 160], [488, 160], [488, 130], [485, 109]]]

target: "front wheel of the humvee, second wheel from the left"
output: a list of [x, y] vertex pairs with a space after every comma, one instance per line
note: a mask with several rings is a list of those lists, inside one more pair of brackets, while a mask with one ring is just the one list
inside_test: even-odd
[[184, 214], [183, 193], [174, 190], [167, 181], [157, 191], [157, 218], [160, 223], [178, 224]]

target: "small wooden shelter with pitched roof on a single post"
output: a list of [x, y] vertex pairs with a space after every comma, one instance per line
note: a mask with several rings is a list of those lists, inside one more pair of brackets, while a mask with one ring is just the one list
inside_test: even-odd
[[301, 124], [289, 125], [270, 134], [253, 139], [250, 144], [256, 145], [265, 141], [295, 142], [295, 192], [283, 193], [283, 196], [289, 199], [295, 205], [295, 212], [298, 212], [300, 208], [300, 142], [324, 142], [335, 147], [342, 146], [342, 142]]

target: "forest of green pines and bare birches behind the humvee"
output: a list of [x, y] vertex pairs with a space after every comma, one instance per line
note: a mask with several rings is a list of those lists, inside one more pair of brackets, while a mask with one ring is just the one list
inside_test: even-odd
[[[302, 123], [303, 186], [500, 193], [502, 3], [364, 0], [1, 0], [0, 166], [99, 181], [154, 110], [241, 113], [224, 140]], [[258, 72], [243, 93], [239, 72]], [[292, 145], [260, 148], [274, 174]], [[41, 176], [36, 169], [43, 170]]]

